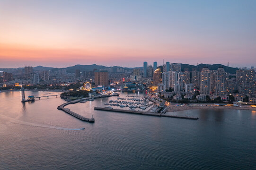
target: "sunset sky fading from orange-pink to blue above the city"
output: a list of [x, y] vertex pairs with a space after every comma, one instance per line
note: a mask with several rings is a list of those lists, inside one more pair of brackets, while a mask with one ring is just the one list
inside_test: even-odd
[[0, 68], [256, 67], [256, 0], [0, 0]]

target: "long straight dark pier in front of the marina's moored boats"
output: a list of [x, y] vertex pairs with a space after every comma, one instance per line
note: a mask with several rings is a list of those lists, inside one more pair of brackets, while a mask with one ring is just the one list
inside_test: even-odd
[[121, 113], [139, 114], [139, 115], [147, 115], [147, 116], [158, 116], [158, 117], [168, 117], [168, 118], [178, 118], [178, 119], [192, 119], [192, 120], [197, 120], [198, 119], [198, 118], [195, 118], [195, 117], [188, 117], [188, 116], [163, 115], [162, 113], [150, 113], [150, 112], [144, 112], [144, 111], [110, 109], [110, 108], [102, 108], [102, 107], [95, 107], [94, 110], [114, 111], [114, 112], [121, 112]]

